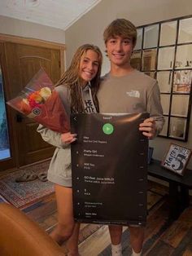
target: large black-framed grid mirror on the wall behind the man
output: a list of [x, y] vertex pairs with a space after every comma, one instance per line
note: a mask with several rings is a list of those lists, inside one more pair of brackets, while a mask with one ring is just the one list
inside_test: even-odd
[[[192, 105], [192, 15], [161, 20], [137, 27], [138, 43], [133, 51], [133, 68], [157, 79], [165, 99], [167, 126], [160, 137], [187, 141]], [[185, 30], [189, 33], [185, 33]], [[139, 57], [138, 57], [139, 53]], [[167, 98], [166, 98], [167, 97]], [[172, 134], [172, 118], [185, 120], [182, 135]], [[179, 128], [180, 130], [180, 128]]]

